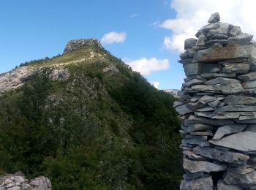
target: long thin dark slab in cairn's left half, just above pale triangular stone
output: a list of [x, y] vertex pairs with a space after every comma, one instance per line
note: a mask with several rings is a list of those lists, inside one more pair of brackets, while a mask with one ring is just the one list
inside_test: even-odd
[[186, 123], [187, 126], [195, 123], [200, 123], [200, 124], [205, 124], [210, 126], [223, 126], [223, 125], [234, 123], [234, 122], [230, 119], [217, 120], [217, 119], [208, 119], [208, 118], [198, 117], [195, 115], [190, 115], [189, 118], [184, 121], [184, 123]]

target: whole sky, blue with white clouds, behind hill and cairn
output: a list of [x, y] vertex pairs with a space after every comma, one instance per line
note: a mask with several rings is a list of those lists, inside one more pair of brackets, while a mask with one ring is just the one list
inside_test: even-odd
[[[70, 39], [102, 39], [116, 32], [125, 37], [105, 42], [107, 50], [149, 82], [159, 83], [159, 89], [180, 88], [184, 72], [177, 61], [184, 39], [195, 37], [211, 13], [218, 11], [223, 21], [256, 34], [256, 4], [232, 2], [230, 6], [230, 0], [1, 0], [0, 72], [56, 56]], [[237, 9], [241, 14], [233, 14]]]

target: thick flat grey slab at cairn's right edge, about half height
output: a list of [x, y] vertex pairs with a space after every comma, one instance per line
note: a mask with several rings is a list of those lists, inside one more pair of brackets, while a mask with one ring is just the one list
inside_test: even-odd
[[224, 102], [229, 105], [253, 105], [256, 104], [256, 98], [243, 95], [228, 95]]

